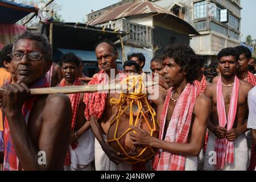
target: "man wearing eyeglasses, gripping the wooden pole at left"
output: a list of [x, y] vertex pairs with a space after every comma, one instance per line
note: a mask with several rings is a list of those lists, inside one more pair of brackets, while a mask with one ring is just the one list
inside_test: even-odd
[[49, 86], [51, 46], [42, 34], [24, 32], [16, 38], [10, 56], [18, 81], [6, 86], [2, 97], [3, 170], [63, 170], [71, 135], [71, 102], [63, 94], [30, 96], [31, 88]]

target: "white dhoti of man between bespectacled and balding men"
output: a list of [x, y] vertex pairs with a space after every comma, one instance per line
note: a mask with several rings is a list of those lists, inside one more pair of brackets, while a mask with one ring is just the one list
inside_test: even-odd
[[69, 171], [90, 171], [94, 160], [94, 136], [91, 130], [86, 131], [77, 140], [78, 146], [75, 150], [69, 145], [71, 165]]

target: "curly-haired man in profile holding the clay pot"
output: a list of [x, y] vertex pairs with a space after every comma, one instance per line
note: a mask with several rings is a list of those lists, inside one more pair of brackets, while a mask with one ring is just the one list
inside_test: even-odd
[[[168, 91], [162, 117], [160, 136], [150, 137], [132, 126], [130, 132], [135, 145], [159, 148], [153, 168], [159, 171], [197, 170], [197, 155], [203, 147], [210, 114], [210, 100], [193, 81], [198, 67], [195, 52], [185, 44], [172, 44], [164, 51], [164, 77]], [[203, 108], [203, 109], [202, 109]]]

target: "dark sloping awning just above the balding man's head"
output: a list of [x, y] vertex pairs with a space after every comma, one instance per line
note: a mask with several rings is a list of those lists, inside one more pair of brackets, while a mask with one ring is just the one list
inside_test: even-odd
[[[49, 24], [44, 24], [42, 33], [49, 37]], [[118, 34], [125, 36], [126, 32], [110, 28], [88, 26], [76, 23], [53, 23], [53, 49], [76, 49], [94, 51], [98, 42], [109, 39], [112, 42], [119, 40]]]

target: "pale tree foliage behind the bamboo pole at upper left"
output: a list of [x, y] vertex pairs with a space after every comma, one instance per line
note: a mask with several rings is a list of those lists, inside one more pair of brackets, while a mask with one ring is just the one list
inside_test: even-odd
[[[46, 4], [48, 2], [48, 0], [15, 0], [15, 2], [23, 3], [24, 5], [39, 6], [42, 4]], [[55, 20], [55, 22], [64, 22], [65, 21], [59, 13], [61, 10], [61, 5], [58, 5], [56, 2], [52, 2], [50, 5], [48, 5], [46, 7], [46, 9], [49, 11], [47, 13], [44, 13], [44, 14], [46, 14], [46, 16], [44, 17], [44, 19], [42, 19], [43, 21], [45, 20], [45, 18], [50, 17], [50, 10], [52, 10], [52, 9], [53, 9], [53, 19]], [[32, 15], [33, 14], [30, 14], [30, 15], [26, 16], [25, 18], [21, 19], [18, 22], [18, 24], [23, 24]], [[30, 20], [30, 22], [28, 22], [27, 26], [35, 26], [36, 23], [38, 23], [38, 22], [39, 22], [39, 18], [33, 18], [32, 20]]]

